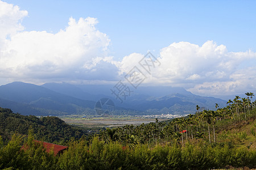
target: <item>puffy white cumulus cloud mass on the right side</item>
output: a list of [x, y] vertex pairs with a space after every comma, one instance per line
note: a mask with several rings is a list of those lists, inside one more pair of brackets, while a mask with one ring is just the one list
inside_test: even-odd
[[[143, 55], [137, 53], [124, 57], [119, 65], [121, 73], [138, 66], [142, 58]], [[253, 83], [256, 82], [256, 67], [248, 67], [249, 63], [256, 63], [256, 53], [250, 50], [228, 52], [225, 45], [217, 45], [213, 41], [202, 46], [174, 42], [161, 49], [158, 61], [161, 65], [152, 69], [144, 84], [185, 87], [200, 95], [256, 89]]]

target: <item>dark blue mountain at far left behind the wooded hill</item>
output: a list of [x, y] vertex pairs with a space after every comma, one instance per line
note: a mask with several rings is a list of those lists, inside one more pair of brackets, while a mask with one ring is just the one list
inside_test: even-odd
[[[76, 114], [79, 111], [85, 111], [86, 108], [93, 109], [95, 105], [94, 101], [77, 99], [45, 87], [23, 82], [13, 82], [0, 86], [0, 99], [5, 100], [5, 105], [9, 105], [11, 109], [17, 107], [17, 104], [25, 104], [27, 108], [32, 109], [29, 113], [35, 115], [38, 114], [34, 112], [35, 109], [44, 114], [47, 114], [47, 111], [49, 114]], [[7, 100], [15, 103], [11, 106], [11, 102], [8, 104]]]

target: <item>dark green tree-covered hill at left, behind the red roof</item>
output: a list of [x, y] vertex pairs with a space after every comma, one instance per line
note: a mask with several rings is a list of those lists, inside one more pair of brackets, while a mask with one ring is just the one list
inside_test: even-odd
[[3, 141], [14, 133], [28, 134], [34, 131], [35, 138], [44, 142], [64, 143], [72, 138], [79, 139], [84, 134], [81, 129], [66, 124], [57, 117], [23, 116], [11, 109], [0, 108], [0, 135]]

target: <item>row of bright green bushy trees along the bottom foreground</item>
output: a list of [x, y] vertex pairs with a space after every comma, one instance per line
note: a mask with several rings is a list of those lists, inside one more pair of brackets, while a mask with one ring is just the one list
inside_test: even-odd
[[[24, 141], [23, 141], [24, 140]], [[138, 145], [123, 147], [119, 142], [105, 143], [94, 137], [92, 142], [71, 141], [63, 154], [47, 153], [43, 145], [14, 135], [7, 145], [1, 143], [1, 169], [213, 169], [255, 168], [256, 151], [228, 145]], [[22, 149], [22, 145], [27, 149]]]

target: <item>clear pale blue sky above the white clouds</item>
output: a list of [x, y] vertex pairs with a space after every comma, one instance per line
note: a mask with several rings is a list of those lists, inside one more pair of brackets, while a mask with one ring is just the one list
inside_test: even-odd
[[255, 1], [5, 1], [28, 11], [26, 31], [56, 33], [68, 19], [97, 18], [115, 57], [159, 52], [172, 42], [203, 45], [207, 40], [229, 51], [256, 50]]

